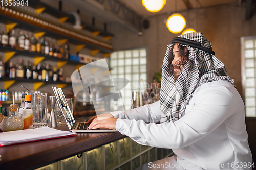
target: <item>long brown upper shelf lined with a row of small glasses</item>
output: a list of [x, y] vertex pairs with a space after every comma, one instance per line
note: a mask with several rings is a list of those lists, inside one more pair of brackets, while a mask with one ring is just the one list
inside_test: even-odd
[[110, 43], [99, 40], [93, 37], [93, 35], [90, 36], [82, 30], [76, 30], [73, 25], [69, 23], [62, 23], [62, 21], [58, 19], [56, 20], [53, 17], [49, 18], [44, 14], [36, 13], [25, 7], [2, 6], [0, 8], [0, 14], [0, 22], [6, 23], [7, 21], [11, 21], [16, 23], [16, 27], [27, 28], [32, 32], [42, 31], [50, 37], [68, 39], [70, 43], [76, 45], [84, 44], [86, 48], [99, 50], [104, 54], [113, 52], [113, 46]]

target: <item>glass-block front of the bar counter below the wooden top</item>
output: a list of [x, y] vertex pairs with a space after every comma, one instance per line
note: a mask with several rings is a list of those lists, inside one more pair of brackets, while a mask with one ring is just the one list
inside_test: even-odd
[[160, 160], [172, 155], [174, 155], [174, 153], [171, 149], [140, 145], [129, 137], [126, 137], [36, 170], [133, 170], [145, 163]]

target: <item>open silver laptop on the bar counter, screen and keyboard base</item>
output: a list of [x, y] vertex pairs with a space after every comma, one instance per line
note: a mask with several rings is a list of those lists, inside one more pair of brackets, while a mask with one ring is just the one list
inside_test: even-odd
[[70, 130], [75, 132], [118, 132], [112, 129], [88, 129], [89, 124], [86, 122], [75, 122], [62, 89], [58, 87], [52, 87], [52, 89]]

